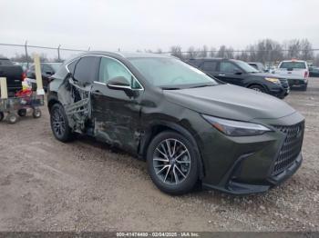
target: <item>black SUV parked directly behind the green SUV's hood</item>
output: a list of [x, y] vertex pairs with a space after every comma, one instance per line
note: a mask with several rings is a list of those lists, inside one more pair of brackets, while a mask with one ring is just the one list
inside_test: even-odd
[[261, 73], [240, 60], [204, 58], [190, 59], [187, 63], [228, 84], [251, 88], [282, 99], [289, 94], [289, 84], [285, 78]]

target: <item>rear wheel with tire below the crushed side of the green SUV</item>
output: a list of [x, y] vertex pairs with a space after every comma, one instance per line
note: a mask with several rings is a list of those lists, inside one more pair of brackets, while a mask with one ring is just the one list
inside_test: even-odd
[[67, 114], [61, 104], [54, 104], [51, 107], [50, 123], [52, 133], [58, 141], [69, 142], [74, 139], [74, 134], [68, 125]]

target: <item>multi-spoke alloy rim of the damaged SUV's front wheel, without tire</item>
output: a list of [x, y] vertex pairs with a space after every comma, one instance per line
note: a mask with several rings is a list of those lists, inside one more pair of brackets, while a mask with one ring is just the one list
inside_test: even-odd
[[177, 139], [163, 140], [154, 151], [153, 167], [162, 183], [182, 183], [190, 174], [190, 152]]

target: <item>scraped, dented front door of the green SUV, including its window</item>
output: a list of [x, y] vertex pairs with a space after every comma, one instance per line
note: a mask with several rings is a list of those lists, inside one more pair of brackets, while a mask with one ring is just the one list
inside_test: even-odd
[[[108, 81], [124, 77], [131, 84], [130, 90], [108, 87]], [[98, 80], [91, 92], [94, 134], [98, 140], [137, 153], [139, 145], [139, 112], [141, 86], [129, 70], [118, 60], [102, 57]], [[137, 87], [138, 85], [138, 87]], [[140, 86], [140, 88], [139, 88]]]

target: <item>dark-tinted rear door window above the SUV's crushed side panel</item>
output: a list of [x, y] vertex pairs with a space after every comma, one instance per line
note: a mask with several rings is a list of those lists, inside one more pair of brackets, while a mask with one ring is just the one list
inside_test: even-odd
[[80, 84], [93, 84], [98, 80], [98, 65], [100, 57], [85, 56], [76, 64], [74, 78]]

